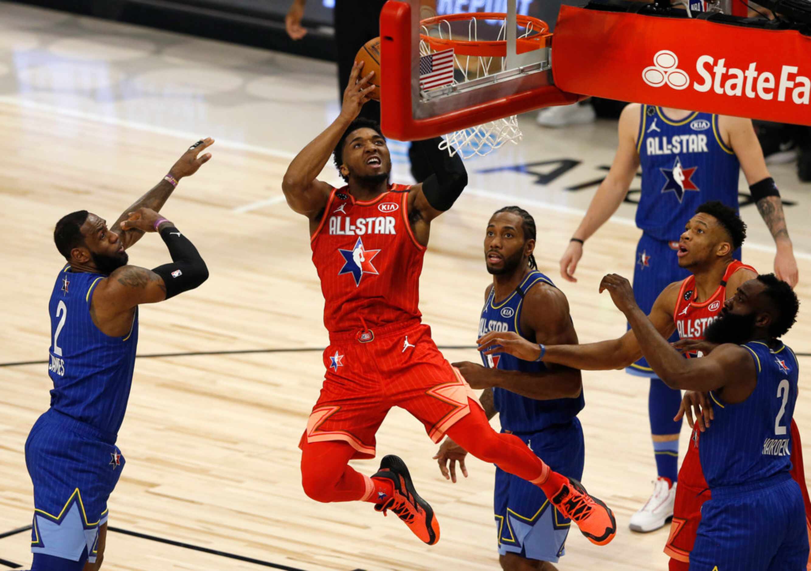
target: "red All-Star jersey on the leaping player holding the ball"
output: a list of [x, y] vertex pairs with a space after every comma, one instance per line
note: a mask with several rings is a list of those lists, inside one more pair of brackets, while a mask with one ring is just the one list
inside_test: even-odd
[[425, 247], [409, 225], [409, 190], [390, 184], [369, 202], [355, 200], [347, 187], [329, 195], [310, 243], [330, 333], [422, 317], [419, 274]]

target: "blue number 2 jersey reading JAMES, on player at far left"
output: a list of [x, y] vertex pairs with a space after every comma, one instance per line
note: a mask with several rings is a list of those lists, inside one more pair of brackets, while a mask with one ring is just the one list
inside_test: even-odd
[[90, 316], [90, 302], [98, 273], [62, 269], [51, 294], [49, 375], [54, 381], [51, 407], [100, 431], [117, 434], [127, 410], [135, 347], [138, 345], [138, 310], [130, 333], [109, 337]]

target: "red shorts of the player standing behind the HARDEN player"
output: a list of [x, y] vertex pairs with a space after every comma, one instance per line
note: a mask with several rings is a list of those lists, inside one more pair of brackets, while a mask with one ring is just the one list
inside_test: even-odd
[[[712, 427], [708, 430], [712, 430]], [[670, 525], [670, 537], [664, 552], [671, 557], [669, 571], [688, 571], [689, 556], [696, 542], [698, 524], [702, 522], [702, 504], [710, 499], [710, 490], [702, 471], [698, 457], [697, 431], [693, 431], [687, 454], [679, 470], [679, 486], [676, 487], [676, 503], [673, 505], [673, 521]], [[811, 500], [805, 486], [803, 470], [803, 449], [800, 442], [800, 430], [792, 419], [792, 478], [800, 484], [805, 500], [805, 518], [811, 539]], [[811, 560], [806, 566], [811, 571]]]

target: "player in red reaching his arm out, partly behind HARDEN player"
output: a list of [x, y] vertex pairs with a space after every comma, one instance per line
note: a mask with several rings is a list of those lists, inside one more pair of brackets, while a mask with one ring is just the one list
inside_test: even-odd
[[[732, 257], [746, 237], [746, 225], [732, 208], [719, 202], [702, 204], [687, 224], [679, 242], [677, 253], [681, 267], [691, 276], [668, 285], [654, 303], [650, 321], [659, 333], [669, 337], [678, 332], [682, 339], [701, 339], [706, 328], [717, 320], [727, 299], [732, 298], [738, 286], [757, 276], [754, 268], [741, 264]], [[489, 337], [497, 337], [497, 340]], [[519, 340], [503, 335], [484, 336], [479, 345], [486, 347], [493, 342], [519, 358], [537, 358], [539, 350], [526, 346]], [[504, 341], [504, 342], [502, 342]], [[692, 343], [680, 341], [688, 348]], [[545, 346], [544, 363], [560, 363], [569, 367], [589, 370], [620, 369], [633, 363], [642, 354], [642, 349], [633, 330], [619, 339], [600, 341], [579, 346]], [[677, 416], [681, 419], [681, 413]], [[673, 509], [671, 535], [665, 553], [671, 556], [672, 571], [686, 570], [689, 552], [693, 548], [698, 523], [701, 521], [702, 503], [710, 497], [702, 466], [697, 454], [699, 427], [693, 431], [693, 445], [688, 448], [679, 471], [679, 486]], [[792, 423], [792, 434], [799, 439], [799, 432]], [[799, 440], [797, 440], [799, 441]], [[800, 447], [792, 446], [792, 460], [802, 465]], [[797, 481], [805, 490], [805, 478], [796, 474]], [[807, 494], [807, 492], [805, 492]], [[650, 506], [653, 513], [662, 505]]]

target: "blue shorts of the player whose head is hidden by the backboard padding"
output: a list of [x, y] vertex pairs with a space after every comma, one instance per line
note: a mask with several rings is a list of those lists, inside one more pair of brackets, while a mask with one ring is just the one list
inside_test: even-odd
[[[681, 234], [681, 229], [679, 230]], [[681, 281], [690, 275], [689, 271], [679, 267], [678, 242], [669, 243], [648, 234], [642, 234], [637, 243], [636, 258], [633, 266], [633, 296], [637, 305], [646, 314], [654, 307], [659, 294], [674, 281]], [[740, 248], [735, 251], [734, 257], [740, 260]], [[629, 325], [628, 328], [631, 328]], [[673, 333], [668, 341], [679, 340], [678, 333]], [[627, 367], [625, 371], [631, 375], [655, 377], [656, 373], [644, 357]]]

